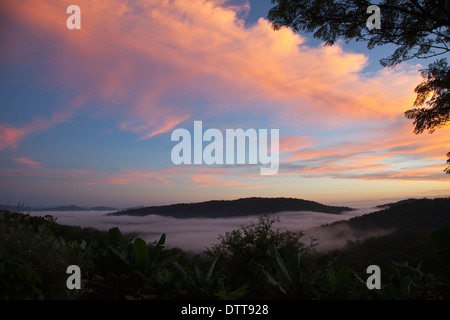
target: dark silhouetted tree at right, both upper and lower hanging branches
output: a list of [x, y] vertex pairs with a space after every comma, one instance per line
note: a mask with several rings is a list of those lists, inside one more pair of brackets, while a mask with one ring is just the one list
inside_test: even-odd
[[[395, 51], [380, 60], [384, 67], [395, 67], [413, 58], [428, 59], [450, 52], [449, 0], [272, 0], [268, 13], [275, 30], [283, 26], [294, 31], [313, 33], [333, 45], [338, 39], [367, 42], [375, 46], [395, 45]], [[381, 28], [366, 26], [367, 8], [377, 5]], [[414, 132], [430, 133], [450, 123], [450, 71], [445, 58], [420, 71], [424, 81], [416, 88], [414, 109], [405, 112], [414, 120]], [[424, 106], [420, 107], [419, 106]], [[447, 153], [450, 165], [450, 152]], [[444, 170], [450, 174], [450, 166]]]

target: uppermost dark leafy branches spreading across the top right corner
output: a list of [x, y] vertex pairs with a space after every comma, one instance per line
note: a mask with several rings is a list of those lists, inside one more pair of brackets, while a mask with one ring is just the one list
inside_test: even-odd
[[[450, 4], [446, 0], [272, 0], [268, 18], [274, 29], [289, 26], [312, 32], [332, 45], [337, 39], [366, 41], [369, 49], [394, 44], [395, 52], [381, 61], [393, 67], [412, 58], [429, 58], [450, 49]], [[367, 8], [375, 4], [382, 13], [380, 29], [369, 30]]]

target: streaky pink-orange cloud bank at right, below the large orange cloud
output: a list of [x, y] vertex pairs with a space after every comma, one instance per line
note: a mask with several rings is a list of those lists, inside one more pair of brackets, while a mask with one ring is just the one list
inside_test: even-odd
[[367, 132], [353, 142], [291, 152], [280, 170], [282, 175], [305, 177], [449, 181], [443, 172], [449, 139], [450, 130], [415, 135], [410, 124], [402, 123], [378, 134]]

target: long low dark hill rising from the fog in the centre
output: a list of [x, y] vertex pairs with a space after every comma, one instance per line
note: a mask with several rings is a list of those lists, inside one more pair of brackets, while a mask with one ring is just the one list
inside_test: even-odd
[[282, 211], [314, 211], [340, 214], [350, 210], [353, 209], [349, 207], [327, 206], [314, 201], [295, 198], [244, 198], [152, 206], [114, 212], [110, 215], [146, 216], [157, 214], [176, 218], [224, 218], [270, 214]]

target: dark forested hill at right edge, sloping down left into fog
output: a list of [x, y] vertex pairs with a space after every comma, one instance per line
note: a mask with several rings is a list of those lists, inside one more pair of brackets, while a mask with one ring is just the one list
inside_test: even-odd
[[[384, 206], [383, 206], [384, 207]], [[435, 230], [450, 222], [450, 198], [408, 199], [390, 203], [380, 211], [335, 222], [329, 226], [347, 224], [351, 229]]]

